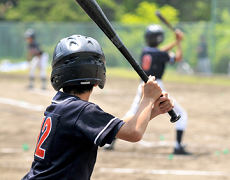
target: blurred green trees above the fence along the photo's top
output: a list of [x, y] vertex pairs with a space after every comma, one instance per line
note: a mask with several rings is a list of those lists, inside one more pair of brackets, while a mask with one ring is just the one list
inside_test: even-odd
[[[175, 21], [210, 21], [211, 0], [96, 0], [110, 21], [148, 21], [153, 12], [146, 5], [162, 9]], [[143, 5], [144, 4], [144, 5]], [[147, 12], [146, 9], [147, 8]], [[155, 9], [154, 8], [154, 9]], [[145, 13], [143, 13], [145, 12]], [[142, 17], [143, 16], [143, 17]], [[171, 18], [171, 16], [173, 16]], [[146, 20], [147, 19], [147, 20]], [[1, 21], [87, 22], [89, 17], [75, 0], [0, 0]], [[135, 20], [134, 20], [135, 21]], [[140, 21], [137, 20], [137, 21]]]

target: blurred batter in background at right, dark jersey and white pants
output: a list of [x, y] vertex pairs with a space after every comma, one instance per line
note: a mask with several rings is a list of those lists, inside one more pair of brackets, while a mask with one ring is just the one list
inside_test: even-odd
[[[146, 74], [156, 77], [157, 83], [161, 86], [162, 91], [165, 91], [162, 77], [165, 72], [166, 63], [173, 64], [182, 60], [183, 54], [181, 49], [181, 40], [183, 39], [183, 33], [179, 30], [175, 30], [175, 41], [167, 44], [166, 46], [159, 48], [161, 42], [164, 40], [164, 30], [160, 25], [151, 24], [147, 27], [145, 31], [145, 42], [146, 46], [142, 50], [141, 54], [141, 66]], [[170, 52], [173, 47], [177, 47], [176, 53]], [[137, 89], [136, 96], [132, 103], [131, 108], [126, 113], [126, 116], [135, 114], [139, 102], [141, 100], [141, 85]], [[185, 150], [185, 147], [182, 145], [182, 137], [187, 126], [187, 112], [181, 107], [179, 103], [173, 99], [175, 103], [174, 111], [181, 115], [180, 120], [176, 122], [176, 142], [173, 154], [175, 155], [191, 155], [190, 152]], [[111, 146], [106, 146], [105, 149], [113, 150], [114, 143]]]

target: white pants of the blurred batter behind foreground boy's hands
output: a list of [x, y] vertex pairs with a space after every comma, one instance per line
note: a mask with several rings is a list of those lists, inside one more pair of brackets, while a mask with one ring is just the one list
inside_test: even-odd
[[[158, 85], [161, 87], [162, 91], [165, 91], [164, 89], [164, 85], [163, 85], [163, 82], [162, 80], [160, 79], [157, 79], [156, 80]], [[142, 84], [142, 83], [141, 83]], [[137, 110], [138, 110], [138, 107], [139, 107], [139, 103], [140, 103], [140, 100], [141, 100], [141, 97], [142, 97], [142, 90], [141, 90], [141, 84], [138, 86], [137, 88], [137, 92], [136, 92], [136, 96], [133, 100], [133, 103], [131, 105], [131, 108], [129, 109], [129, 111], [125, 114], [125, 117], [128, 117], [128, 116], [132, 116], [134, 115]], [[172, 98], [173, 99], [173, 98]], [[177, 121], [175, 123], [175, 126], [176, 126], [176, 130], [185, 130], [186, 127], [187, 127], [187, 121], [188, 121], [188, 116], [187, 116], [187, 112], [181, 107], [181, 105], [179, 103], [176, 102], [175, 99], [173, 99], [174, 101], [174, 108], [173, 110], [177, 113], [177, 114], [180, 114], [181, 115], [181, 118], [179, 121]]]

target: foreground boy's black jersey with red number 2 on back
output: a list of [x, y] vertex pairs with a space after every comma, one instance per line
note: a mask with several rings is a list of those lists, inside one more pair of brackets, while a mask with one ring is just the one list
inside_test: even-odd
[[124, 124], [99, 106], [60, 91], [44, 115], [34, 161], [23, 180], [89, 180], [98, 146], [111, 144]]

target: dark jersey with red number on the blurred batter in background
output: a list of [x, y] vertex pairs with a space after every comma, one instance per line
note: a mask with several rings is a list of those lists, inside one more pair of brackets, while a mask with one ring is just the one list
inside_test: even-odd
[[160, 51], [155, 47], [144, 47], [141, 54], [141, 67], [149, 76], [155, 76], [156, 79], [161, 79], [166, 63], [174, 63], [175, 57], [170, 57], [168, 52]]

